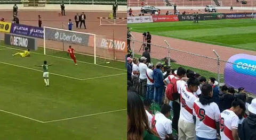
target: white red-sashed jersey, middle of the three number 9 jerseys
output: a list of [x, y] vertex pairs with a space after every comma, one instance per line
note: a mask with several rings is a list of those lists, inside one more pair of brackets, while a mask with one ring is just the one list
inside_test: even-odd
[[203, 106], [199, 99], [196, 99], [193, 115], [196, 116], [196, 136], [207, 139], [217, 138], [215, 122], [220, 120], [220, 110], [215, 102]]

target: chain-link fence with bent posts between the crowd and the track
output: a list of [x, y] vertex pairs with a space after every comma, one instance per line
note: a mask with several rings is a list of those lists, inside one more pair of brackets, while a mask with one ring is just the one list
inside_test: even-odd
[[[133, 52], [133, 57], [140, 58], [142, 56], [143, 48], [141, 48], [142, 41], [135, 39], [131, 40], [131, 50]], [[182, 47], [182, 46], [181, 46]], [[241, 62], [234, 60], [222, 60], [216, 51], [213, 52], [216, 57], [203, 56], [199, 54], [194, 54], [187, 51], [182, 51], [178, 49], [173, 49], [166, 42], [166, 46], [159, 46], [151, 43], [151, 63], [156, 64], [157, 62], [162, 62], [164, 57], [169, 58], [169, 64], [172, 68], [178, 68], [180, 66], [185, 67], [186, 69], [191, 69], [194, 72], [201, 74], [201, 76], [206, 77], [215, 77], [220, 83], [225, 82], [228, 86], [233, 86], [238, 89], [240, 86], [243, 86], [247, 92], [256, 94], [255, 86], [248, 84], [249, 82], [244, 82], [242, 79], [245, 78], [245, 75], [250, 75], [250, 78], [246, 80], [252, 81], [255, 79], [256, 72], [256, 58], [243, 56], [241, 58], [236, 58], [237, 60], [243, 60], [244, 58], [249, 60], [243, 60]], [[235, 67], [240, 68], [239, 70]], [[229, 71], [227, 69], [235, 69]], [[242, 74], [241, 74], [242, 73]], [[229, 81], [225, 77], [226, 75], [231, 75], [236, 77], [236, 80]], [[234, 84], [236, 82], [236, 84]], [[251, 82], [253, 83], [253, 82]], [[250, 87], [249, 87], [250, 86]]]

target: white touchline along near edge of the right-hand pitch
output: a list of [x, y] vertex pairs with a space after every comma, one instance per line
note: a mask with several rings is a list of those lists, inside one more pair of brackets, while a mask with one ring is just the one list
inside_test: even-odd
[[[134, 30], [134, 31], [142, 31], [142, 30]], [[153, 32], [153, 31], [151, 31]], [[213, 41], [207, 41], [207, 40], [201, 40], [201, 39], [195, 39], [195, 38], [188, 38], [188, 37], [182, 37], [182, 36], [175, 36], [175, 35], [172, 35], [172, 34], [167, 34], [167, 33], [159, 33], [159, 32], [153, 32], [155, 35], [165, 35], [165, 36], [169, 36], [169, 37], [177, 37], [177, 38], [185, 38], [185, 39], [191, 39], [191, 40], [198, 40], [198, 41], [204, 41], [204, 42], [210, 42], [210, 43], [215, 43], [215, 44], [219, 44], [219, 45], [225, 45], [225, 46], [221, 46], [221, 47], [226, 47], [226, 48], [230, 48], [230, 47], [227, 47], [227, 46], [234, 46], [234, 47], [238, 47], [238, 48], [245, 48], [245, 49], [253, 49], [253, 50], [256, 50], [256, 48], [247, 48], [247, 47], [243, 47], [243, 46], [237, 46], [237, 45], [230, 45], [230, 44], [227, 44], [227, 43], [220, 43], [220, 42], [213, 42]], [[202, 42], [203, 43], [203, 42]], [[238, 49], [238, 48], [235, 48], [235, 49]], [[241, 50], [241, 49], [240, 49]], [[244, 50], [244, 49], [243, 49]], [[247, 50], [247, 51], [251, 51], [251, 52], [255, 52], [255, 51], [252, 51], [252, 50]]]

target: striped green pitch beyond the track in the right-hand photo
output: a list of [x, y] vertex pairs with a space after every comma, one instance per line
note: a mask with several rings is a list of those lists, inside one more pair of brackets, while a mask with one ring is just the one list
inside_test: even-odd
[[129, 24], [131, 31], [256, 51], [256, 22], [250, 19], [207, 20], [193, 23], [156, 22]]

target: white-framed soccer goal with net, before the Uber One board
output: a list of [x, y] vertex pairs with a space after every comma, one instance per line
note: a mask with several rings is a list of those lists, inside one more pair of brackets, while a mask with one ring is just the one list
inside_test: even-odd
[[105, 38], [92, 33], [44, 27], [44, 54], [67, 56], [67, 50], [72, 46], [75, 54], [81, 55], [80, 58], [76, 55], [78, 60], [84, 58], [93, 64], [107, 63], [115, 59], [115, 53], [113, 49], [101, 47]]

